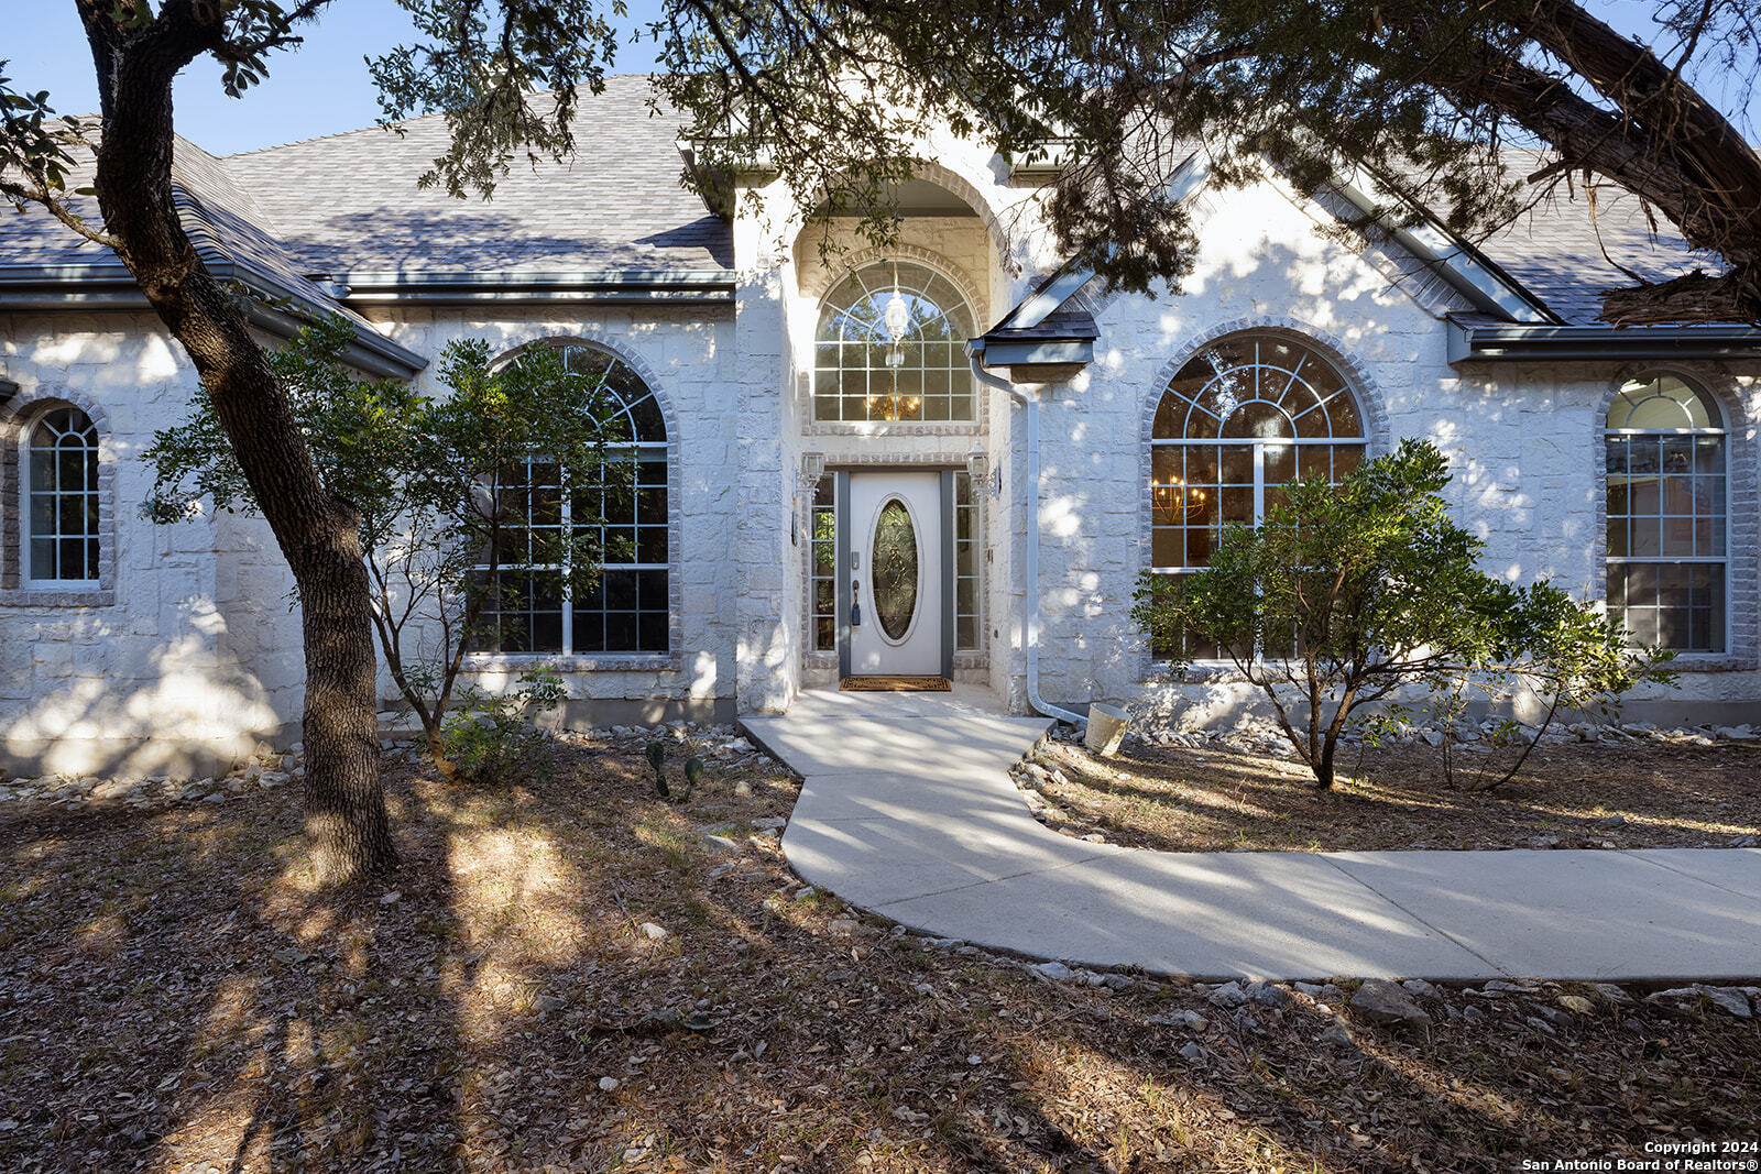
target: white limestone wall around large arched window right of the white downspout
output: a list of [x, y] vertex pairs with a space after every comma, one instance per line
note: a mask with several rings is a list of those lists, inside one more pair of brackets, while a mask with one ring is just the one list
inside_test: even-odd
[[[1386, 257], [1359, 257], [1317, 238], [1319, 215], [1273, 185], [1227, 201], [1212, 197], [1199, 227], [1203, 255], [1185, 294], [1113, 299], [1101, 315], [1095, 364], [1044, 389], [1048, 699], [1129, 702], [1194, 723], [1243, 704], [1247, 692], [1238, 686], [1169, 681], [1127, 618], [1138, 570], [1148, 563], [1145, 486], [1155, 403], [1196, 349], [1240, 329], [1287, 329], [1331, 352], [1358, 393], [1372, 454], [1405, 437], [1433, 440], [1451, 458], [1449, 498], [1485, 539], [1490, 570], [1513, 583], [1551, 577], [1580, 598], [1603, 597], [1603, 421], [1620, 382], [1638, 368], [1481, 364], [1456, 371], [1446, 363], [1440, 320], [1451, 296], [1391, 283]], [[1731, 651], [1678, 658], [1680, 686], [1648, 690], [1627, 711], [1671, 722], [1752, 720], [1761, 716], [1761, 384], [1708, 364], [1673, 370], [1719, 394], [1731, 429]]]

